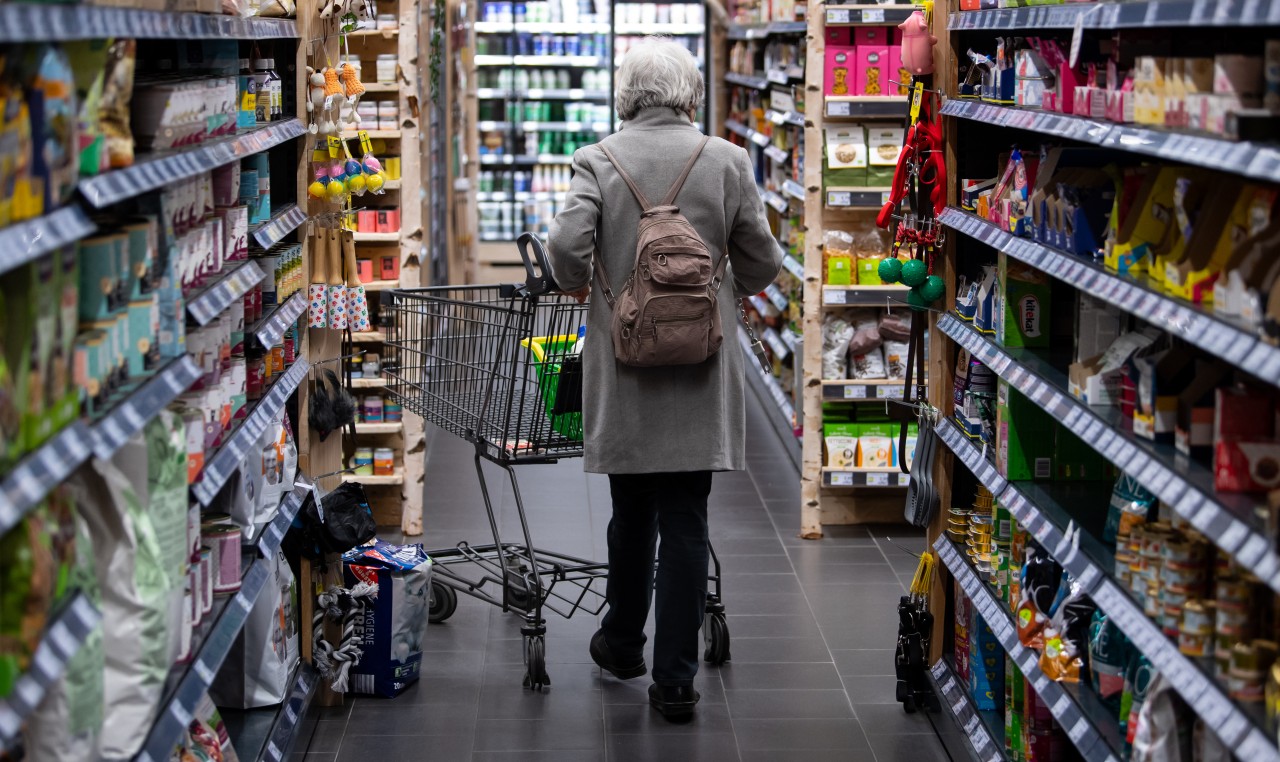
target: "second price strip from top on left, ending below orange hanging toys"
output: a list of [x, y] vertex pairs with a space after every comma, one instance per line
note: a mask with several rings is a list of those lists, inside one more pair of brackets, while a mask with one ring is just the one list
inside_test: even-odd
[[301, 119], [289, 119], [265, 127], [256, 127], [187, 151], [148, 159], [143, 156], [133, 166], [82, 179], [79, 192], [96, 209], [102, 209], [147, 191], [218, 169], [273, 146], [306, 134]]

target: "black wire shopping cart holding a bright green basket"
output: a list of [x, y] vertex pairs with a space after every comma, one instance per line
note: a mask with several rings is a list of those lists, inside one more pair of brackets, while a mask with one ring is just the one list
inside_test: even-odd
[[[575, 352], [588, 305], [557, 293], [547, 251], [534, 236], [518, 239], [527, 279], [520, 286], [442, 286], [384, 292], [384, 374], [404, 410], [475, 446], [492, 544], [460, 542], [429, 551], [429, 617], [442, 622], [457, 593], [524, 616], [525, 686], [549, 688], [543, 610], [566, 619], [604, 608], [607, 565], [535, 548], [513, 466], [582, 455], [582, 366]], [[536, 256], [538, 272], [529, 247]], [[503, 542], [481, 458], [511, 479], [524, 544]], [[719, 558], [707, 596], [704, 658], [730, 658]], [[471, 571], [468, 576], [463, 571]], [[479, 572], [477, 575], [475, 572]]]

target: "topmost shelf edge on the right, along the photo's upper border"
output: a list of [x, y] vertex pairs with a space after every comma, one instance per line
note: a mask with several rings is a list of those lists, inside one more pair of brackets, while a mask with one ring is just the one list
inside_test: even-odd
[[[1078, 17], [1084, 17], [1078, 20]], [[1153, 29], [1165, 27], [1254, 27], [1280, 24], [1280, 0], [1146, 0], [1094, 5], [1047, 5], [952, 13], [947, 28], [968, 29]]]

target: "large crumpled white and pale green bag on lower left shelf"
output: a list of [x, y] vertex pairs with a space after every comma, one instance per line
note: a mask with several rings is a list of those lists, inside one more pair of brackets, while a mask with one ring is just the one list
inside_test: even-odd
[[178, 657], [187, 583], [187, 446], [161, 411], [110, 461], [68, 482], [102, 593], [102, 733], [96, 757], [137, 754]]

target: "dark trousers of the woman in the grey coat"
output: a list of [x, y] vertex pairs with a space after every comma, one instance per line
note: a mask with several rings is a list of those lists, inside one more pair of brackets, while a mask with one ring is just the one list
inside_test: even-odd
[[659, 685], [692, 685], [698, 674], [698, 630], [707, 606], [710, 490], [710, 471], [609, 475], [613, 519], [604, 636], [623, 660], [644, 652], [657, 547], [653, 679]]

